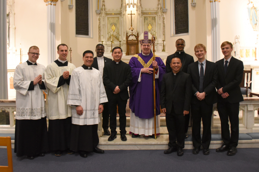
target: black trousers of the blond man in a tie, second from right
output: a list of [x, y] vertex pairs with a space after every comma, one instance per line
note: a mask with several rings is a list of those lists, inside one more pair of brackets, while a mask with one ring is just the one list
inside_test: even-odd
[[[191, 111], [193, 117], [193, 147], [209, 149], [211, 141], [211, 116], [213, 111], [213, 104], [208, 105], [205, 100], [199, 101], [197, 104], [191, 104]], [[201, 120], [203, 125], [202, 139], [201, 139]]]

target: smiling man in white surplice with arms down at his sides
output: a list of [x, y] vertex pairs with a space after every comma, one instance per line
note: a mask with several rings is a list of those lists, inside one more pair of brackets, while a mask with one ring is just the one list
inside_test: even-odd
[[94, 53], [83, 53], [83, 66], [73, 70], [68, 90], [67, 104], [72, 106], [71, 151], [80, 151], [81, 157], [87, 152], [104, 153], [97, 147], [99, 114], [103, 103], [108, 102], [102, 76], [92, 68]]

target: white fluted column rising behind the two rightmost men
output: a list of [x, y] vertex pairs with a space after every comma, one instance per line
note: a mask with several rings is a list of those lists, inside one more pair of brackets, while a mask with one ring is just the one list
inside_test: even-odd
[[211, 5], [211, 42], [212, 62], [220, 60], [220, 14], [218, 0], [210, 1]]

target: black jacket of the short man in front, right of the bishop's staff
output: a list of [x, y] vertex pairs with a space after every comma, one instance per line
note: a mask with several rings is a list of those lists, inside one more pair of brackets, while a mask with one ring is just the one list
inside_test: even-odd
[[160, 92], [160, 106], [165, 108], [167, 113], [172, 110], [176, 114], [183, 114], [183, 111], [190, 110], [192, 97], [192, 80], [189, 74], [179, 71], [175, 86], [173, 88], [173, 72], [163, 75], [162, 88]]

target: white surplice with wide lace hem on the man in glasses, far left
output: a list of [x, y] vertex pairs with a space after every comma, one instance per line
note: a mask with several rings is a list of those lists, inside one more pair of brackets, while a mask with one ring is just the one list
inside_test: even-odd
[[[37, 76], [44, 78], [45, 66], [28, 65], [27, 62], [19, 64], [14, 72], [14, 89], [16, 90], [16, 119], [41, 119], [46, 116], [43, 90], [39, 84], [34, 90], [29, 85]], [[45, 80], [42, 80], [43, 82]], [[46, 90], [44, 90], [46, 91]]]

